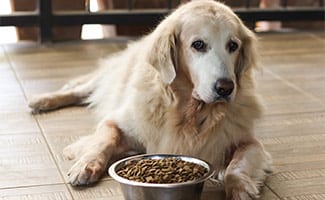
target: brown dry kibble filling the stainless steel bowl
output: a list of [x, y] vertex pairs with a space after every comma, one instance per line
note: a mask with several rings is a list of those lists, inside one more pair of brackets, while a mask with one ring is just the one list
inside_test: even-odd
[[205, 173], [205, 167], [173, 157], [131, 161], [117, 171], [123, 178], [143, 183], [182, 183]]

